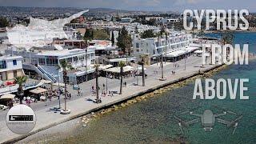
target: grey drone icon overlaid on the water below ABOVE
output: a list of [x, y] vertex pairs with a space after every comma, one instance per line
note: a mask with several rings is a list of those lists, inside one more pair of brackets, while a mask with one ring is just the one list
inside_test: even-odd
[[[218, 108], [217, 106], [215, 107]], [[221, 108], [218, 108], [218, 109], [221, 109]], [[178, 127], [180, 128], [182, 134], [183, 134], [182, 127], [189, 127], [194, 123], [199, 123], [199, 122], [201, 122], [201, 126], [206, 132], [212, 131], [214, 129], [215, 122], [218, 122], [223, 125], [226, 125], [227, 128], [233, 128], [234, 130], [232, 134], [234, 134], [235, 130], [238, 127], [238, 121], [242, 118], [242, 114], [237, 114], [233, 111], [225, 110], [225, 109], [221, 109], [221, 110], [222, 110], [221, 114], [214, 114], [212, 110], [205, 110], [203, 114], [194, 114], [193, 110], [186, 110], [185, 112], [182, 112], [181, 114], [179, 114], [179, 115], [190, 114], [190, 116], [198, 117], [190, 121], [182, 120], [182, 118], [180, 118], [177, 115], [173, 115], [173, 116], [178, 121]], [[221, 116], [225, 116], [227, 114], [233, 114], [237, 117], [233, 121], [226, 121], [222, 118], [218, 118]]]

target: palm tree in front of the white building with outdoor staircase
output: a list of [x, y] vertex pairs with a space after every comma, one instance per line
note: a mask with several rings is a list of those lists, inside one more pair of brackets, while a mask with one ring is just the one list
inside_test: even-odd
[[67, 78], [66, 77], [67, 77], [67, 71], [73, 70], [74, 68], [68, 62], [66, 62], [66, 60], [62, 60], [60, 62], [60, 64], [61, 64], [61, 66], [59, 66], [59, 69], [62, 69], [62, 71], [63, 71], [63, 82], [64, 82], [64, 89], [65, 89], [64, 111], [67, 111], [66, 110], [66, 95], [67, 95], [67, 90], [66, 90], [66, 84], [67, 84], [66, 79]]

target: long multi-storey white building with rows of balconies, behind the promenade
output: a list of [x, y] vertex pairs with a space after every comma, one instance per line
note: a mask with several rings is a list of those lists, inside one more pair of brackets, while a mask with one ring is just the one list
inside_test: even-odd
[[167, 41], [166, 38], [135, 38], [134, 56], [147, 54], [153, 62], [163, 56], [167, 58], [167, 62], [174, 62], [196, 50], [195, 47], [190, 47], [191, 40], [192, 35], [186, 33], [170, 34]]

